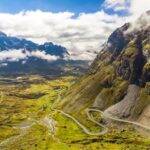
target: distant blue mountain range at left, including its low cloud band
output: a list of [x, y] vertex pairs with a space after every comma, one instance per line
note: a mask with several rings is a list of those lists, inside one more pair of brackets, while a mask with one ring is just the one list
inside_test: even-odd
[[42, 45], [0, 32], [0, 75], [63, 75], [86, 71], [88, 62], [70, 60], [67, 49], [52, 42]]

